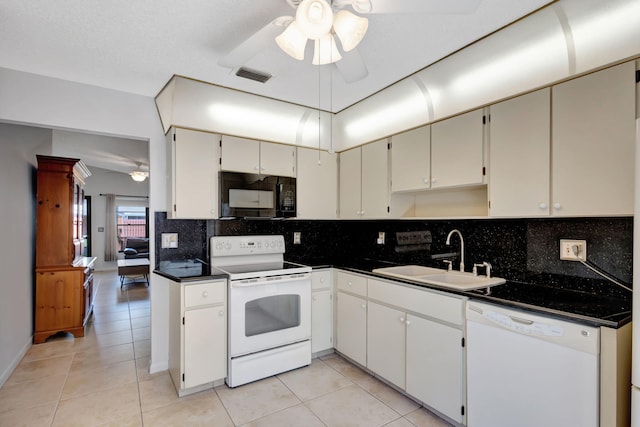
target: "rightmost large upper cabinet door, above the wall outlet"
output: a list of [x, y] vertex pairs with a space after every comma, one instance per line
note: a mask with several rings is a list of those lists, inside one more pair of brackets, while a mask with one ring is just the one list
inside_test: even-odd
[[552, 87], [554, 215], [633, 215], [635, 63]]

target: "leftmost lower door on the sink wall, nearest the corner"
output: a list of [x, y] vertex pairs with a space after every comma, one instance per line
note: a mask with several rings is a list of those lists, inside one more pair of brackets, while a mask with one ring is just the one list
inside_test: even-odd
[[338, 292], [337, 349], [361, 364], [367, 365], [367, 302], [363, 298]]

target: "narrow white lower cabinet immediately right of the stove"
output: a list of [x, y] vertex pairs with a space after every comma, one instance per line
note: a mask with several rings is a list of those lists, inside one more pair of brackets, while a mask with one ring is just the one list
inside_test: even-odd
[[333, 348], [333, 280], [331, 270], [311, 273], [311, 353]]

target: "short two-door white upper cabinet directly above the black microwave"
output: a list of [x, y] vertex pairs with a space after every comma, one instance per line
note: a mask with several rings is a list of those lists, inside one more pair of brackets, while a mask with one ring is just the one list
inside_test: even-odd
[[223, 135], [221, 169], [261, 175], [296, 176], [296, 147]]

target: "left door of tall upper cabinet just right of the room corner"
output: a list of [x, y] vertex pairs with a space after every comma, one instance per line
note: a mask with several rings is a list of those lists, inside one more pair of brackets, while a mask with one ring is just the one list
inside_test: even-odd
[[362, 216], [361, 148], [340, 153], [340, 218]]

